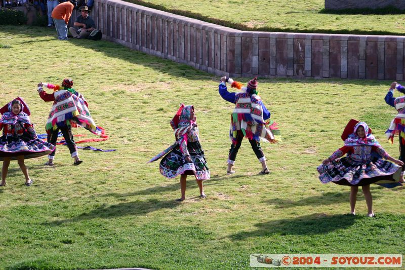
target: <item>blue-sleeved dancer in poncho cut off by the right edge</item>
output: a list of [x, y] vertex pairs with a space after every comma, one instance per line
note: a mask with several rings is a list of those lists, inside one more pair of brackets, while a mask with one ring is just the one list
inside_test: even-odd
[[[385, 102], [394, 107], [398, 114], [391, 121], [388, 130], [385, 132], [391, 143], [394, 141], [395, 134], [399, 135], [399, 160], [405, 163], [405, 96], [394, 98], [394, 89], [398, 90], [402, 94], [405, 94], [405, 87], [401, 86], [397, 82], [393, 82], [385, 95]], [[399, 182], [403, 183], [403, 174], [405, 173], [405, 166], [402, 166], [401, 177]]]

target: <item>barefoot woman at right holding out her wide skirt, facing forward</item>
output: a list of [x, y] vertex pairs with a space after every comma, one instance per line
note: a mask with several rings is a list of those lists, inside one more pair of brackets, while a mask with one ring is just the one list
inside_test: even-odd
[[[358, 187], [361, 186], [366, 198], [367, 215], [373, 217], [370, 184], [395, 182], [394, 178], [399, 178], [400, 166], [404, 164], [388, 155], [364, 122], [350, 120], [343, 131], [342, 140], [345, 142], [344, 146], [318, 166], [319, 180], [324, 184], [333, 182], [350, 186], [350, 213], [353, 215]], [[345, 153], [347, 156], [341, 158]]]

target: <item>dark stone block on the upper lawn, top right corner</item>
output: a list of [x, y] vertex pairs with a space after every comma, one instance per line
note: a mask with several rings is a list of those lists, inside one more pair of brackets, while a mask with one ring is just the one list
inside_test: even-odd
[[325, 0], [325, 9], [378, 9], [385, 7], [405, 9], [403, 0]]

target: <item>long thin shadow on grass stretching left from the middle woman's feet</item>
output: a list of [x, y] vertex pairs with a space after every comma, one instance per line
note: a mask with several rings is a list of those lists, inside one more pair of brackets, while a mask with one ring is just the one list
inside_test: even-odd
[[88, 213], [83, 213], [76, 217], [64, 220], [46, 222], [45, 224], [58, 226], [63, 223], [80, 222], [94, 218], [116, 218], [121, 216], [144, 215], [160, 209], [173, 209], [176, 208], [179, 204], [180, 203], [174, 200], [159, 201], [156, 199], [152, 199], [148, 201], [137, 200], [130, 203], [119, 203], [111, 206], [102, 205]]

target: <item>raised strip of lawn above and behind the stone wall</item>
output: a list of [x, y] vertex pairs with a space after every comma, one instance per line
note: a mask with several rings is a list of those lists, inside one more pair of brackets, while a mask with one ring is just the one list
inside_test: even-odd
[[[404, 35], [405, 14], [392, 10], [325, 11], [324, 0], [127, 0], [241, 30]], [[400, 14], [402, 13], [402, 14]], [[367, 14], [367, 15], [365, 15]]]

